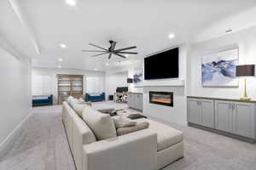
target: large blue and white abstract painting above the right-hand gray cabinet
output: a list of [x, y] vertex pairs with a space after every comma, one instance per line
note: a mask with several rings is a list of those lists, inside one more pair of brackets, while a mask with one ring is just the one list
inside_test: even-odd
[[238, 48], [202, 57], [201, 83], [208, 87], [237, 87]]

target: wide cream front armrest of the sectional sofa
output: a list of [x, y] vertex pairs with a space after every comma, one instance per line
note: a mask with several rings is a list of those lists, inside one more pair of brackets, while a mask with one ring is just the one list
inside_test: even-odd
[[84, 144], [83, 170], [155, 170], [157, 136], [147, 130]]

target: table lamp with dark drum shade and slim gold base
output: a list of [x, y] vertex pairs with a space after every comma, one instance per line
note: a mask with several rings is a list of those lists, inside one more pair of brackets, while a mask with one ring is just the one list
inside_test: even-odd
[[243, 77], [244, 78], [244, 90], [243, 90], [243, 97], [241, 100], [250, 100], [247, 96], [247, 80], [246, 77], [253, 77], [254, 76], [254, 67], [255, 65], [236, 65], [236, 77]]

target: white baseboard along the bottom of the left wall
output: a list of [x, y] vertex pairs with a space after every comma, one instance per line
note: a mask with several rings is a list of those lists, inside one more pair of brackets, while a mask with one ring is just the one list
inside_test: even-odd
[[30, 116], [32, 116], [32, 111], [18, 124], [17, 127], [15, 127], [11, 133], [9, 133], [5, 139], [3, 139], [3, 142], [0, 144], [0, 160], [2, 160], [3, 156], [5, 156], [5, 154], [7, 154], [7, 152], [13, 147], [14, 139], [19, 135], [23, 124]]

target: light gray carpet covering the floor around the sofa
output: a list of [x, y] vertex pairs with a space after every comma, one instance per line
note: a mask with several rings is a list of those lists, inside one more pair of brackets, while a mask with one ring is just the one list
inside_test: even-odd
[[[115, 108], [124, 104], [112, 104]], [[156, 120], [156, 119], [155, 119]], [[160, 120], [157, 120], [160, 121]], [[162, 121], [160, 121], [162, 122]], [[256, 145], [169, 122], [183, 131], [185, 156], [164, 170], [255, 170]], [[26, 122], [20, 138], [0, 158], [1, 170], [74, 170], [64, 127], [61, 106], [37, 107]]]

